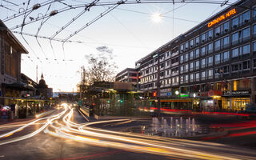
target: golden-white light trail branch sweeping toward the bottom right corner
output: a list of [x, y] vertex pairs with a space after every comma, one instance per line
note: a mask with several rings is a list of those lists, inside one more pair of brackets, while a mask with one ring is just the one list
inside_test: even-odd
[[[62, 118], [62, 123], [54, 122], [50, 124], [50, 130], [46, 129], [46, 133], [54, 135], [60, 138], [68, 138], [70, 140], [78, 141], [78, 142], [86, 142], [86, 144], [94, 145], [94, 146], [103, 146], [103, 147], [113, 147], [121, 150], [129, 150], [134, 152], [142, 152], [142, 153], [150, 153], [150, 154], [161, 154], [166, 156], [174, 156], [179, 158], [198, 158], [198, 159], [245, 159], [248, 158], [246, 156], [238, 155], [238, 154], [226, 154], [225, 152], [218, 154], [211, 154], [210, 152], [202, 151], [204, 149], [203, 145], [206, 147], [217, 147], [218, 145], [212, 145], [213, 143], [202, 142], [200, 145], [201, 150], [191, 150], [189, 147], [186, 147], [190, 143], [190, 146], [193, 146], [192, 141], [188, 142], [179, 142], [179, 144], [174, 144], [170, 142], [162, 142], [158, 141], [158, 138], [142, 138], [141, 136], [129, 134], [129, 136], [125, 135], [125, 133], [114, 132], [110, 130], [100, 130], [100, 129], [92, 129], [86, 126], [91, 124], [99, 124], [106, 122], [126, 122], [130, 121], [130, 119], [118, 119], [118, 120], [110, 120], [104, 122], [90, 122], [86, 124], [78, 124], [75, 122], [71, 122], [70, 119], [74, 114], [74, 109], [70, 109], [70, 112], [66, 114]], [[54, 130], [54, 131], [53, 131]], [[94, 130], [94, 131], [90, 131]], [[107, 132], [108, 134], [102, 134], [101, 132]], [[119, 134], [119, 135], [114, 135]], [[122, 134], [122, 135], [120, 135]], [[107, 139], [107, 140], [106, 140]], [[175, 142], [175, 141], [174, 141]], [[198, 142], [194, 142], [197, 144]], [[224, 146], [222, 146], [224, 147]], [[219, 149], [218, 147], [215, 150]], [[230, 151], [230, 150], [229, 150]], [[249, 153], [246, 153], [249, 154]]]

